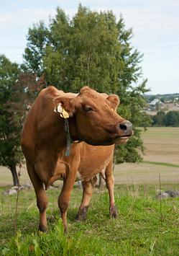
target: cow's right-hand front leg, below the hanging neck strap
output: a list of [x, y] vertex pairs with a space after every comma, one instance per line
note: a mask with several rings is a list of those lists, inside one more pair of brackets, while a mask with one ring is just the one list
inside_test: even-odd
[[63, 188], [58, 198], [58, 206], [60, 208], [60, 216], [63, 221], [63, 226], [65, 232], [68, 231], [67, 225], [67, 210], [70, 201], [71, 191], [75, 183], [77, 169], [68, 169], [65, 173], [65, 178], [63, 181]]

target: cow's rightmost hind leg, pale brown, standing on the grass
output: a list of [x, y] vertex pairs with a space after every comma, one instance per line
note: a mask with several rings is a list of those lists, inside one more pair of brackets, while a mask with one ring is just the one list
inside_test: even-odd
[[115, 206], [114, 200], [114, 176], [113, 176], [113, 159], [109, 162], [109, 165], [106, 167], [106, 187], [109, 190], [109, 214], [111, 218], [117, 218], [118, 212]]

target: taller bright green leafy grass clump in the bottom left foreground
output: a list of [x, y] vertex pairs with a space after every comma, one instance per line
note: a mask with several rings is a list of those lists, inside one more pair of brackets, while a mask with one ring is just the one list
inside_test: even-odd
[[38, 233], [23, 236], [21, 231], [17, 231], [16, 236], [12, 237], [9, 244], [4, 247], [1, 253], [4, 256], [64, 256], [84, 255], [86, 250], [88, 251], [88, 255], [93, 255], [93, 253], [100, 253], [102, 255], [104, 253], [100, 248], [95, 247], [95, 244], [91, 247], [90, 241], [86, 241], [83, 234], [76, 233], [75, 236], [68, 237], [64, 233], [62, 221], [59, 220], [54, 229], [51, 229], [47, 233], [39, 231]]

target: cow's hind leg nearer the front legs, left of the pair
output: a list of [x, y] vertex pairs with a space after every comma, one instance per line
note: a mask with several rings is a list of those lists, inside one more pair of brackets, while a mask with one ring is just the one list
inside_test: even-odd
[[76, 215], [76, 219], [78, 221], [83, 221], [84, 219], [86, 219], [86, 215], [88, 213], [88, 207], [89, 207], [91, 196], [93, 193], [93, 187], [96, 185], [96, 182], [97, 182], [97, 177], [93, 177], [93, 180], [82, 182], [83, 198], [81, 201], [81, 206]]

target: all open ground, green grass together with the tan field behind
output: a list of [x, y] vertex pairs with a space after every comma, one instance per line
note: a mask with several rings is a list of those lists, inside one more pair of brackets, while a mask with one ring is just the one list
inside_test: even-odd
[[[106, 188], [95, 189], [86, 221], [75, 221], [82, 191], [74, 187], [68, 210], [68, 234], [59, 221], [60, 187], [48, 190], [47, 234], [37, 232], [39, 221], [33, 190], [4, 195], [11, 185], [9, 170], [1, 167], [0, 255], [179, 255], [179, 198], [156, 200], [159, 174], [162, 190], [179, 190], [179, 128], [149, 128], [142, 133], [144, 163], [120, 164], [114, 169], [118, 219], [109, 218]], [[28, 181], [22, 169], [22, 184]], [[61, 184], [60, 184], [61, 185]], [[17, 234], [14, 228], [17, 226]]]

